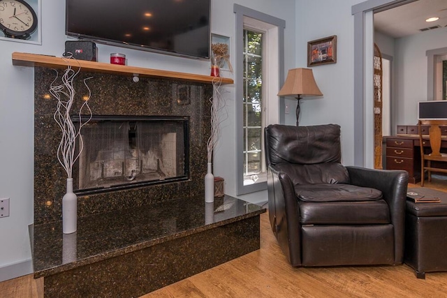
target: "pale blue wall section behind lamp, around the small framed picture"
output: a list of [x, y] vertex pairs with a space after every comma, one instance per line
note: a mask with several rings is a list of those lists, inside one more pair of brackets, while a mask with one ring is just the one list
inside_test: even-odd
[[354, 17], [351, 6], [360, 2], [296, 1], [296, 67], [307, 67], [309, 40], [337, 35], [337, 63], [312, 67], [323, 98], [302, 101], [300, 125], [332, 123], [342, 126], [342, 161], [346, 165], [353, 164], [354, 149]]

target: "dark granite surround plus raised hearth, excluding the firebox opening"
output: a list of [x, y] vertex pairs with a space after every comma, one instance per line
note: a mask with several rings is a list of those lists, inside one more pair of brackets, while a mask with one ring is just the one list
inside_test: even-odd
[[79, 73], [77, 105], [87, 94], [82, 79], [91, 76], [95, 115], [186, 117], [188, 179], [78, 195], [78, 230], [63, 234], [66, 173], [56, 157], [56, 102], [48, 98], [55, 70], [34, 69], [30, 237], [34, 277], [43, 278], [44, 297], [139, 297], [260, 248], [265, 209], [228, 195], [204, 200], [212, 84], [154, 77], [135, 83], [130, 76], [103, 73]]

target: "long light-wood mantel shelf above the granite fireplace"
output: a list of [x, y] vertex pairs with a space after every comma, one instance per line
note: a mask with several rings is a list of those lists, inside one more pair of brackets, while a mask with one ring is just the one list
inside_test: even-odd
[[[192, 82], [212, 83], [216, 77], [210, 75], [196, 75], [192, 73], [177, 73], [175, 71], [156, 70], [134, 66], [108, 64], [94, 61], [64, 59], [60, 57], [13, 52], [13, 65], [15, 66], [40, 66], [46, 68], [73, 68], [80, 67], [84, 71], [94, 73], [109, 73], [114, 75], [129, 75], [138, 77], [159, 77], [171, 80], [188, 80]], [[221, 84], [233, 84], [233, 80], [227, 77], [221, 78]]]

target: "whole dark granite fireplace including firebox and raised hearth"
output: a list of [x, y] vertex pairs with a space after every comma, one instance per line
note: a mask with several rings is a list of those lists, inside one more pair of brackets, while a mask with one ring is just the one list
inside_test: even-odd
[[[80, 73], [77, 104], [86, 93], [82, 80], [92, 76], [96, 116], [82, 131], [87, 149], [75, 179], [82, 180], [78, 192], [101, 180], [108, 182], [94, 188], [110, 191], [78, 195], [78, 230], [63, 234], [66, 173], [56, 157], [61, 132], [47, 94], [54, 70], [34, 67], [30, 237], [45, 297], [138, 297], [258, 249], [265, 209], [228, 196], [211, 205], [203, 199], [212, 85], [197, 75], [190, 82], [140, 77], [135, 84], [124, 75]], [[87, 174], [79, 170], [85, 168]], [[112, 182], [135, 184], [145, 176], [140, 187]]]

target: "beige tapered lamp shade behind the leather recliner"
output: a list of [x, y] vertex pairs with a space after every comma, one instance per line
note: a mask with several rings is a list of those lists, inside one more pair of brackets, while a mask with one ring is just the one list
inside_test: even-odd
[[286, 82], [279, 90], [278, 96], [322, 96], [316, 85], [314, 73], [310, 68], [293, 68], [288, 70]]

